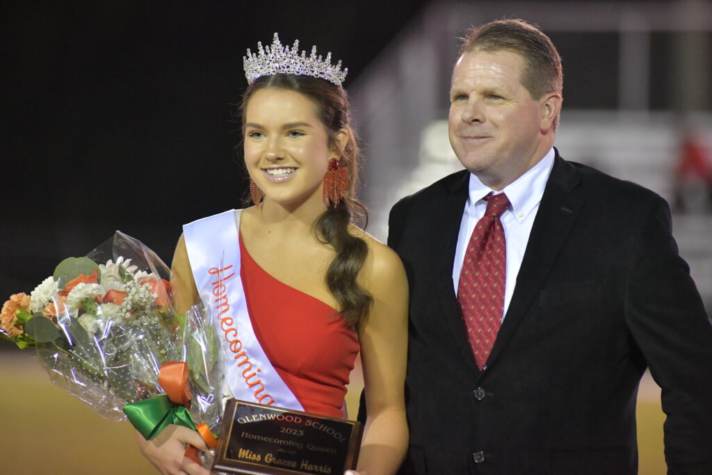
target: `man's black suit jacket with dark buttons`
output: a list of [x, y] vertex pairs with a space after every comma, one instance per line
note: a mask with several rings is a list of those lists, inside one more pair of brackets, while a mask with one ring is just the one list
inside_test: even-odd
[[670, 474], [712, 474], [712, 326], [658, 195], [558, 155], [486, 370], [452, 268], [466, 170], [402, 199], [410, 286], [406, 474], [637, 474], [646, 367]]

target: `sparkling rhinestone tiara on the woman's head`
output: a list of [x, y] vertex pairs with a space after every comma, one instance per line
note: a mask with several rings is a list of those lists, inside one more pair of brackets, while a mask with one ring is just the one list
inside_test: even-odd
[[321, 56], [316, 56], [316, 46], [312, 46], [312, 52], [307, 58], [306, 51], [298, 53], [299, 40], [289, 46], [282, 46], [279, 36], [274, 33], [272, 46], [262, 47], [262, 43], [257, 43], [258, 53], [252, 54], [247, 49], [247, 56], [242, 57], [247, 83], [251, 84], [257, 78], [272, 74], [297, 74], [312, 76], [328, 80], [335, 85], [341, 85], [346, 78], [348, 68], [341, 71], [341, 61], [336, 65], [331, 64], [331, 52], [322, 61]]

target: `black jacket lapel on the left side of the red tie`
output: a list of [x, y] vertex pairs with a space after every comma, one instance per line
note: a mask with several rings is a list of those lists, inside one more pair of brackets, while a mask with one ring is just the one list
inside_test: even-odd
[[436, 219], [430, 229], [432, 243], [432, 268], [435, 271], [434, 281], [436, 294], [439, 298], [445, 324], [449, 327], [455, 347], [463, 360], [473, 371], [478, 373], [470, 343], [464, 330], [462, 313], [457, 303], [452, 283], [452, 268], [455, 261], [457, 236], [460, 231], [462, 213], [468, 196], [470, 174], [462, 172], [461, 179], [456, 180], [441, 202], [435, 203]]

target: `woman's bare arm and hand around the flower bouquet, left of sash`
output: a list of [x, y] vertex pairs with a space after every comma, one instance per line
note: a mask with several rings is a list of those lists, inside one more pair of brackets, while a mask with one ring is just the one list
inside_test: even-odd
[[[171, 294], [173, 308], [177, 313], [184, 313], [198, 301], [198, 290], [193, 280], [183, 236], [180, 237], [173, 255]], [[139, 432], [136, 432], [136, 438], [143, 456], [162, 474], [210, 474], [210, 471], [183, 456], [187, 444], [208, 451], [200, 435], [187, 427], [171, 424], [154, 439], [146, 440]]]

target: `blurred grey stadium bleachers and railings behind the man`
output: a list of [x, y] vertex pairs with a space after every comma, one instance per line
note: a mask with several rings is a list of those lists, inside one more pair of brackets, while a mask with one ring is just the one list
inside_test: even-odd
[[[712, 4], [706, 0], [432, 3], [350, 87], [367, 157], [369, 231], [385, 239], [392, 204], [461, 169], [446, 122], [456, 38], [473, 24], [501, 18], [538, 24], [562, 54], [556, 146], [567, 160], [642, 184], [671, 203], [676, 192], [685, 195], [685, 212], [674, 209], [674, 235], [709, 313], [712, 187], [701, 177], [675, 187], [685, 135], [693, 133], [712, 159]], [[572, 64], [577, 67], [567, 68]], [[567, 100], [574, 88], [585, 90]]]

